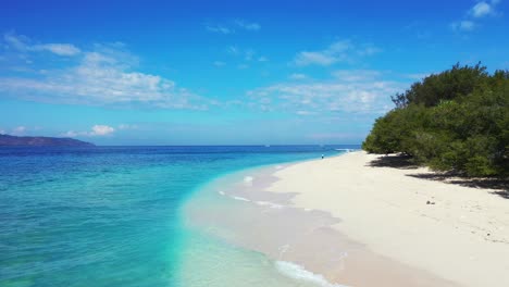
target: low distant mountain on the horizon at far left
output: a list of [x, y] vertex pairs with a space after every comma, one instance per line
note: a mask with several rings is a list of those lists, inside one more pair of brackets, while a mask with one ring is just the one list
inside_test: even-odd
[[0, 147], [30, 146], [30, 147], [94, 147], [94, 144], [73, 139], [53, 137], [16, 137], [0, 135]]

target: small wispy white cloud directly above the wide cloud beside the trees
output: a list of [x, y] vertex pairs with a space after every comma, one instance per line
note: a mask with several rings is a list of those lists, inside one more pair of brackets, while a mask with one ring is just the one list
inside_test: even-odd
[[358, 57], [369, 57], [382, 50], [371, 45], [355, 45], [349, 40], [336, 41], [320, 51], [301, 51], [297, 53], [294, 63], [298, 66], [328, 66], [338, 62], [350, 62]]

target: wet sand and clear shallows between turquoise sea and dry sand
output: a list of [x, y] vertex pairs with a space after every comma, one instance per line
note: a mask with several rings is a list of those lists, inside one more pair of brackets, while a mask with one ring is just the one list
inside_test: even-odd
[[274, 269], [281, 270], [281, 262], [295, 264], [290, 270], [313, 274], [326, 282], [326, 286], [457, 286], [425, 270], [374, 252], [336, 228], [343, 223], [339, 216], [326, 210], [296, 205], [298, 192], [271, 190], [285, 179], [280, 177], [281, 173], [342, 160], [347, 154], [248, 169], [219, 177], [187, 205], [188, 224], [234, 247], [265, 254], [273, 260]]

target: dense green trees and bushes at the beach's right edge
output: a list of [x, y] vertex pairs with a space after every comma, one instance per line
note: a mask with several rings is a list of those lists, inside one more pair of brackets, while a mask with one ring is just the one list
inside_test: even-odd
[[362, 148], [468, 176], [509, 175], [509, 71], [452, 66], [393, 97]]

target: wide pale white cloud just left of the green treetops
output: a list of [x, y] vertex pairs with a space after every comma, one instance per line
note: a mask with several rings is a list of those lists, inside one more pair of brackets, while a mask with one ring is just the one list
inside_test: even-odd
[[[306, 115], [330, 112], [383, 113], [393, 104], [390, 96], [400, 92], [406, 85], [384, 80], [375, 71], [337, 72], [340, 77], [307, 83], [282, 83], [248, 92], [250, 107], [262, 111], [286, 111]], [[348, 77], [345, 77], [348, 75]]]

